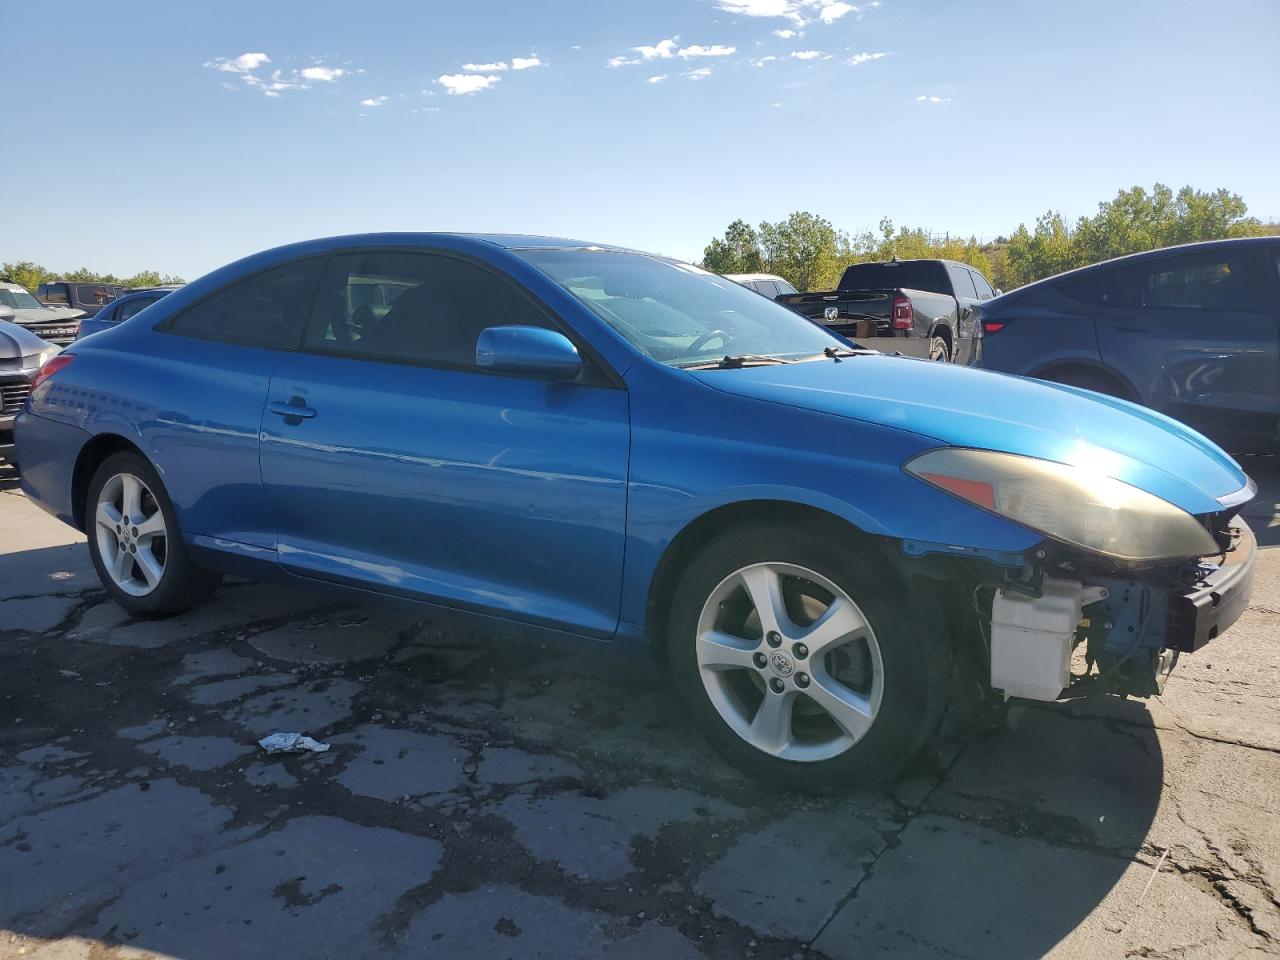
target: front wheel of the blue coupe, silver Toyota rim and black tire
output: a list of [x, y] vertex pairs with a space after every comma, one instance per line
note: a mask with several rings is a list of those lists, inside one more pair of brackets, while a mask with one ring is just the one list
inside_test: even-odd
[[809, 794], [895, 773], [936, 727], [950, 671], [908, 586], [829, 527], [710, 541], [676, 589], [667, 645], [676, 690], [730, 763]]

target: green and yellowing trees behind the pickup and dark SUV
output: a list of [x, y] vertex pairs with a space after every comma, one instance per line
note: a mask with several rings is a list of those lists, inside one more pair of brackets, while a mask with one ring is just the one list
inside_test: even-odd
[[751, 227], [735, 220], [703, 252], [703, 266], [718, 274], [769, 273], [800, 291], [832, 289], [850, 264], [870, 260], [942, 257], [978, 268], [1001, 289], [1096, 264], [1194, 241], [1280, 234], [1280, 224], [1248, 216], [1239, 195], [1226, 189], [1176, 193], [1162, 183], [1121, 189], [1098, 204], [1098, 212], [1069, 223], [1050, 210], [1028, 229], [1019, 224], [1007, 237], [979, 243], [919, 227], [895, 227], [884, 218], [879, 229], [847, 233], [808, 211], [786, 220]]

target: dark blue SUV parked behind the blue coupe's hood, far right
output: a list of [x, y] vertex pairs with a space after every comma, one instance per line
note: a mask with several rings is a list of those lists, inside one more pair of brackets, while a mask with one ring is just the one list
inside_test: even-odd
[[1280, 426], [1280, 237], [1137, 253], [979, 307], [974, 364], [1134, 401], [1236, 452]]

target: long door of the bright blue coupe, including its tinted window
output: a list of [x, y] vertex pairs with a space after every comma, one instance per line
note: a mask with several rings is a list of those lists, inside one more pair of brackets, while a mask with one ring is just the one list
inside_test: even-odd
[[303, 349], [271, 378], [262, 426], [285, 568], [616, 630], [627, 393], [595, 366], [573, 383], [477, 367], [480, 330], [511, 324], [557, 321], [453, 255], [333, 256]]

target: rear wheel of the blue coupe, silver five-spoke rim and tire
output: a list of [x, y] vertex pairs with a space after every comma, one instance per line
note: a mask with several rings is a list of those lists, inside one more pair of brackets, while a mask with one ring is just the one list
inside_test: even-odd
[[160, 475], [136, 453], [115, 453], [93, 472], [84, 526], [99, 580], [129, 613], [180, 613], [218, 586], [191, 561]]

